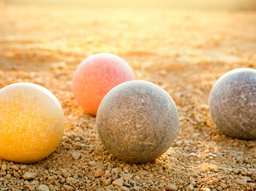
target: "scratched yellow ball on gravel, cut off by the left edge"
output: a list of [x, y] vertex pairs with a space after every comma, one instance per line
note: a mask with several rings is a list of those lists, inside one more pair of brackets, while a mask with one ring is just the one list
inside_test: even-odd
[[62, 139], [64, 113], [42, 86], [17, 83], [0, 90], [0, 157], [34, 163], [50, 155]]

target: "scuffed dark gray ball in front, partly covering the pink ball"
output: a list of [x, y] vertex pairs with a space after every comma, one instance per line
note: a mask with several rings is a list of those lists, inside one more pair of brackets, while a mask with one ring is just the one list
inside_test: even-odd
[[166, 91], [136, 80], [124, 82], [106, 94], [96, 124], [109, 153], [127, 162], [143, 163], [170, 148], [178, 133], [179, 116]]

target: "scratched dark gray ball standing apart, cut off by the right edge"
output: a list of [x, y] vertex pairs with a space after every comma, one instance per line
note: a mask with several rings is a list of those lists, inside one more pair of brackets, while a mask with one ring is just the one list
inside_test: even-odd
[[221, 76], [209, 96], [213, 122], [226, 135], [256, 138], [256, 70], [234, 69]]

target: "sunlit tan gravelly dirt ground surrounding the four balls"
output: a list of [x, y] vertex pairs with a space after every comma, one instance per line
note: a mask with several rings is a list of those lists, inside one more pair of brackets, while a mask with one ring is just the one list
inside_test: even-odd
[[[32, 82], [49, 89], [65, 113], [62, 142], [24, 166], [0, 160], [1, 191], [253, 190], [256, 142], [225, 136], [207, 99], [229, 70], [256, 67], [256, 12], [0, 5], [0, 88]], [[148, 163], [108, 153], [95, 117], [71, 92], [87, 56], [124, 58], [137, 80], [165, 89], [179, 111], [172, 147]]]

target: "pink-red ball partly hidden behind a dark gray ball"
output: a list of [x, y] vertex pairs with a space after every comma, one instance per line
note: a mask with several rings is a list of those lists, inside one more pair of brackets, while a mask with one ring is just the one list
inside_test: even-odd
[[86, 113], [96, 115], [104, 96], [117, 85], [135, 80], [129, 64], [119, 56], [99, 53], [89, 56], [77, 67], [72, 91]]

